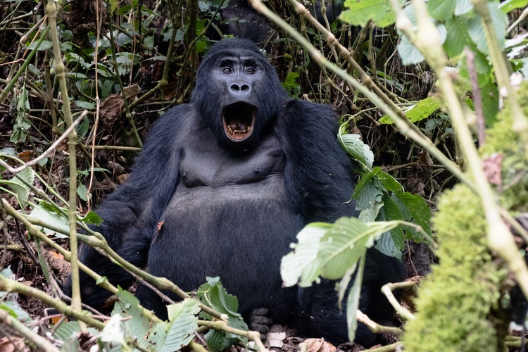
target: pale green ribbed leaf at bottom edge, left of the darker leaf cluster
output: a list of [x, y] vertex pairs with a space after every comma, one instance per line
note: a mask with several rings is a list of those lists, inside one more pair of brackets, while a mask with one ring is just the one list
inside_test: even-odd
[[194, 338], [194, 331], [198, 329], [199, 302], [195, 298], [185, 298], [182, 302], [167, 306], [170, 323], [167, 337], [160, 352], [177, 351], [187, 346]]

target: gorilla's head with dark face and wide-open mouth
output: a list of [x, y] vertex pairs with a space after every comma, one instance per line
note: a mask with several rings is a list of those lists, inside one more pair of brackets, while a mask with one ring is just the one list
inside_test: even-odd
[[287, 99], [258, 46], [226, 39], [203, 58], [191, 103], [221, 146], [241, 150], [259, 143]]

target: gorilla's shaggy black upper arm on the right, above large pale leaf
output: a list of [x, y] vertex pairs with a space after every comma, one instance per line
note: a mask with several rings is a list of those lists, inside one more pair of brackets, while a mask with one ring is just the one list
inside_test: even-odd
[[351, 161], [337, 142], [337, 116], [329, 105], [292, 100], [277, 117], [289, 198], [307, 221], [355, 214]]

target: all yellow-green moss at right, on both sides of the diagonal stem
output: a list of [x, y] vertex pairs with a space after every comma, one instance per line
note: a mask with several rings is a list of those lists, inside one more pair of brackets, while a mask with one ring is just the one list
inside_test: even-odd
[[[528, 116], [528, 84], [518, 91]], [[498, 201], [511, 213], [528, 211], [528, 172], [524, 146], [513, 132], [507, 106], [486, 132], [483, 160], [501, 154], [502, 184]], [[439, 200], [434, 226], [439, 241], [439, 265], [422, 282], [416, 319], [406, 325], [406, 351], [501, 351], [508, 319], [499, 306], [508, 270], [486, 246], [486, 220], [477, 195], [459, 184]], [[502, 300], [504, 301], [504, 300]], [[506, 300], [507, 301], [507, 300]]]

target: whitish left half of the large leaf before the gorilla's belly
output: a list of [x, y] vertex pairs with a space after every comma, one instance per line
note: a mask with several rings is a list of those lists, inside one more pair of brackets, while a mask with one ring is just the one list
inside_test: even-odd
[[291, 245], [294, 250], [282, 257], [280, 263], [284, 287], [292, 287], [297, 283], [300, 287], [309, 287], [318, 279], [320, 240], [330, 226], [324, 222], [313, 222], [297, 234], [298, 243]]

